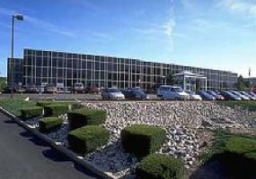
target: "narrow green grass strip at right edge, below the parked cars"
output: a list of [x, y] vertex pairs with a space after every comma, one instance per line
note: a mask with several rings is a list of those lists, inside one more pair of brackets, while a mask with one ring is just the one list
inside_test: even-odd
[[243, 109], [256, 111], [256, 101], [216, 101], [216, 104], [227, 107], [243, 107]]

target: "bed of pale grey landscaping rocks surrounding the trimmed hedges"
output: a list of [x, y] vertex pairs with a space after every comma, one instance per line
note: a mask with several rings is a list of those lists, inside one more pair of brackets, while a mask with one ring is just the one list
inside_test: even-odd
[[[256, 124], [255, 113], [249, 113], [241, 107], [218, 106], [214, 102], [102, 101], [86, 102], [83, 105], [106, 110], [108, 118], [103, 126], [110, 131], [109, 144], [84, 159], [118, 178], [133, 178], [138, 162], [135, 156], [124, 152], [121, 147], [120, 132], [128, 125], [150, 124], [162, 127], [167, 132], [168, 141], [158, 153], [182, 158], [185, 167], [191, 169], [199, 153], [211, 140], [209, 130], [220, 127], [248, 131]], [[66, 115], [61, 117], [65, 123], [57, 132], [51, 132], [48, 136], [66, 146], [68, 125]], [[34, 121], [32, 119], [26, 123], [35, 124]]]

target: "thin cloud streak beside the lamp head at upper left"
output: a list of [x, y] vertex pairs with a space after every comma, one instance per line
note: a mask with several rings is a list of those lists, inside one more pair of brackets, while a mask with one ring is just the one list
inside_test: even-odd
[[[14, 10], [0, 7], [0, 14], [8, 15], [11, 17], [11, 15], [16, 13], [17, 12]], [[41, 30], [47, 30], [63, 36], [69, 36], [69, 37], [75, 36], [75, 33], [72, 30], [67, 30], [66, 28], [57, 26], [49, 21], [44, 21], [42, 19], [31, 17], [26, 14], [23, 14], [23, 15], [24, 15], [24, 21], [31, 23], [33, 26], [40, 28]]]

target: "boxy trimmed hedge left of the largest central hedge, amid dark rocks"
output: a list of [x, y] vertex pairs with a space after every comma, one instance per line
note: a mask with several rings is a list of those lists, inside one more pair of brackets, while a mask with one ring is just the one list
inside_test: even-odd
[[98, 125], [87, 125], [67, 134], [70, 149], [83, 155], [106, 145], [109, 139], [110, 132]]

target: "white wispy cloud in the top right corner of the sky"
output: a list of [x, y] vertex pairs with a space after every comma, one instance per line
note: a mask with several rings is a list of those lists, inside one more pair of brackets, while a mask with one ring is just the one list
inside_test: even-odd
[[255, 17], [255, 0], [217, 0], [216, 6], [223, 7], [233, 13], [246, 13]]

